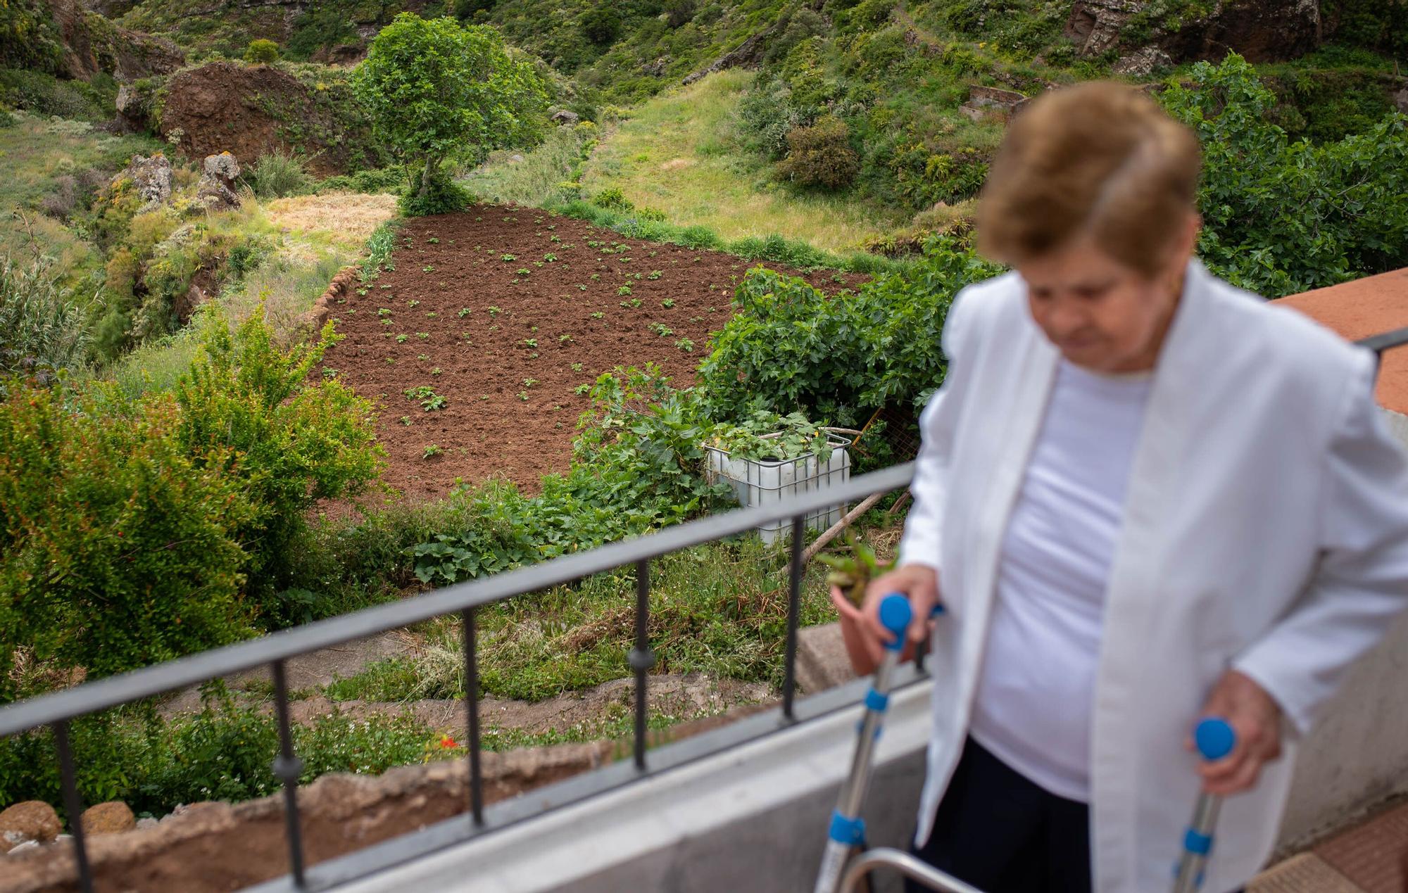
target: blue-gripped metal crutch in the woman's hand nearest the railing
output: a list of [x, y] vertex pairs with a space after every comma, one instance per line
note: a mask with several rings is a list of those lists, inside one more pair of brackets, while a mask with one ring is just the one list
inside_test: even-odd
[[894, 641], [886, 644], [880, 666], [876, 668], [870, 690], [866, 692], [866, 713], [856, 735], [850, 775], [842, 782], [841, 797], [831, 813], [831, 830], [826, 835], [826, 851], [821, 856], [815, 893], [836, 893], [850, 849], [866, 845], [866, 823], [860, 818], [860, 807], [865, 804], [866, 783], [870, 780], [870, 758], [884, 724], [884, 711], [890, 706], [890, 676], [900, 662], [904, 634], [910, 628], [912, 616], [910, 600], [898, 593], [891, 593], [880, 601], [880, 624], [894, 635]]

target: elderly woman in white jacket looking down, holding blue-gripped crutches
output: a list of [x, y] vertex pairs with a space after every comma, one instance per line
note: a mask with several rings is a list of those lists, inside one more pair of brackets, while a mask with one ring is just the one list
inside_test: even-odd
[[[1167, 889], [1200, 787], [1235, 794], [1204, 889], [1246, 883], [1295, 738], [1408, 601], [1374, 358], [1193, 259], [1198, 166], [1118, 85], [1012, 121], [979, 239], [1014, 272], [953, 301], [900, 566], [867, 590], [874, 639], [884, 593], [948, 608], [914, 847], [993, 893]], [[1202, 716], [1238, 734], [1205, 766]]]

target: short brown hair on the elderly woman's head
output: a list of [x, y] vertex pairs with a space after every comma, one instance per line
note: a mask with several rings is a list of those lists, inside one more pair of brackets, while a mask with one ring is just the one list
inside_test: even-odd
[[1198, 139], [1152, 99], [1095, 80], [1046, 93], [1012, 120], [977, 211], [983, 254], [1018, 265], [1088, 232], [1153, 273], [1195, 208]]

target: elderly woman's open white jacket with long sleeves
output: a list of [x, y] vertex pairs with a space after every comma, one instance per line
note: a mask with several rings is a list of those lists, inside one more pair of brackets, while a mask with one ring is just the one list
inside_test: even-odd
[[[943, 349], [901, 544], [903, 563], [938, 568], [949, 608], [929, 665], [919, 841], [963, 745], [1000, 544], [1057, 365], [1015, 273], [959, 294]], [[1288, 720], [1287, 755], [1224, 804], [1204, 889], [1249, 880], [1276, 838], [1294, 739], [1408, 606], [1408, 469], [1373, 382], [1370, 352], [1190, 263], [1110, 572], [1091, 707], [1098, 893], [1169, 887], [1200, 787], [1184, 739], [1228, 668]]]

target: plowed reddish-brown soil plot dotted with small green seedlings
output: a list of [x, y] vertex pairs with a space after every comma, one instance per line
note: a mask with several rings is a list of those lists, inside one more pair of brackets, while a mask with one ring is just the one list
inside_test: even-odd
[[[536, 490], [566, 470], [576, 392], [601, 372], [655, 362], [693, 382], [752, 266], [521, 207], [411, 220], [393, 265], [335, 307], [346, 339], [325, 365], [377, 401], [384, 480], [422, 499], [493, 476]], [[807, 275], [826, 290], [865, 279]]]

